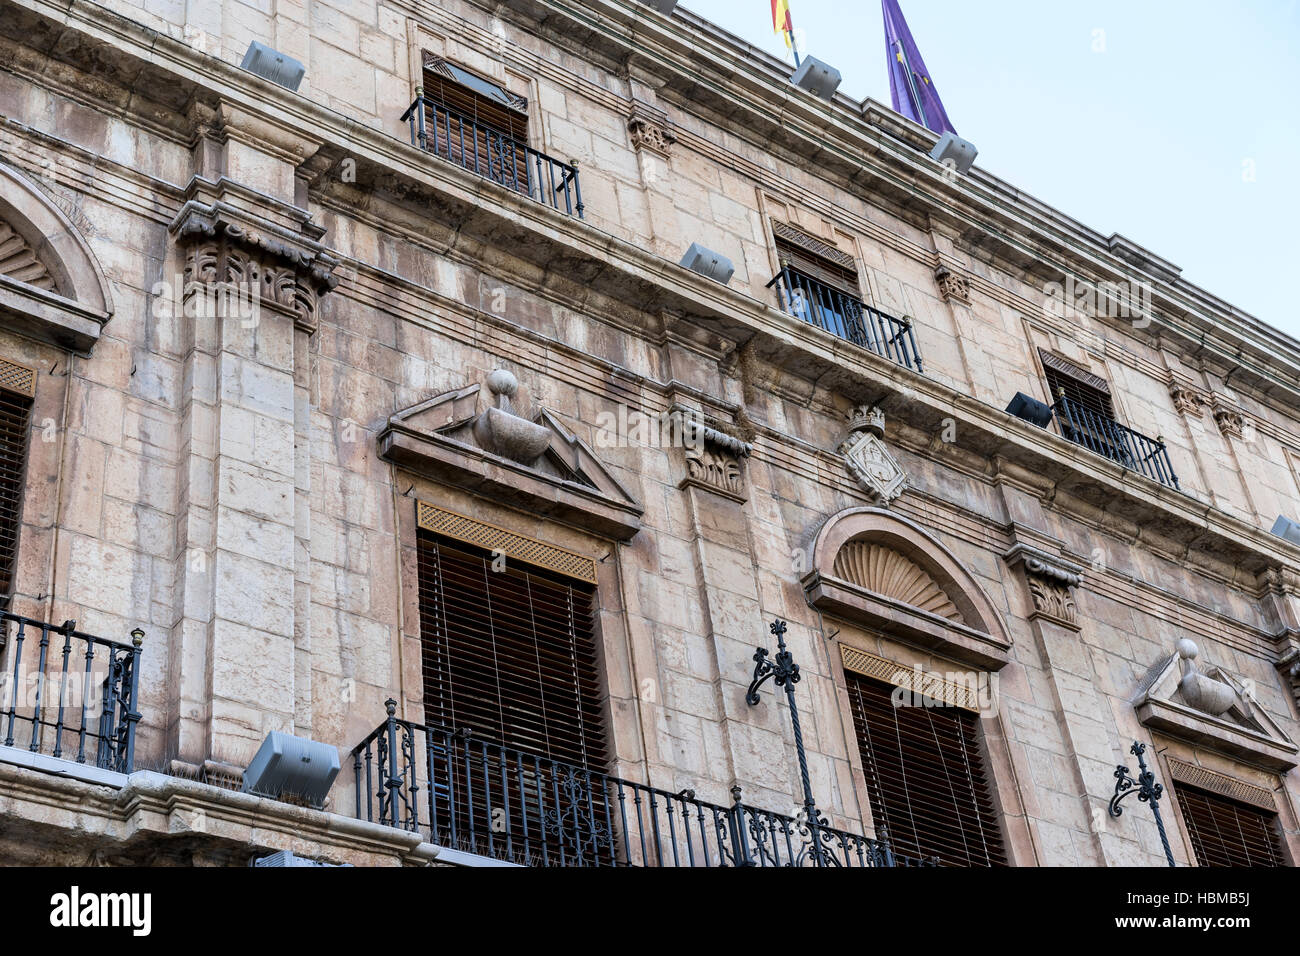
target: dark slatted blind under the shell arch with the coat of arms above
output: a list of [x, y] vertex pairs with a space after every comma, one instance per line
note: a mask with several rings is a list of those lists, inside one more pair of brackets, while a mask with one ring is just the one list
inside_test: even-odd
[[896, 708], [890, 684], [846, 678], [876, 832], [897, 853], [945, 866], [1005, 866], [979, 717], [953, 706]]

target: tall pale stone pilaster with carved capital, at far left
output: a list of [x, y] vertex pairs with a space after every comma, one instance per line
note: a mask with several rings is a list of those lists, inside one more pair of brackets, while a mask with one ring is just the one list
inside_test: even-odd
[[307, 355], [337, 260], [295, 204], [316, 144], [203, 118], [170, 225], [188, 345], [170, 735], [182, 761], [243, 766], [268, 731], [311, 728]]

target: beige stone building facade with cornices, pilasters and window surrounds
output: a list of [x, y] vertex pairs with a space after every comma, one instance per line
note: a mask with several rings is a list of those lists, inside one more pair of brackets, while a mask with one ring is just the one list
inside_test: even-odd
[[[502, 856], [356, 792], [386, 701], [442, 713], [430, 541], [589, 602], [590, 769], [693, 808], [803, 805], [784, 689], [746, 702], [784, 620], [837, 830], [888, 836], [875, 680], [972, 714], [1000, 861], [1164, 864], [1145, 808], [1106, 810], [1135, 740], [1179, 865], [1210, 852], [1196, 801], [1300, 853], [1300, 546], [1270, 533], [1300, 518], [1300, 343], [682, 10], [0, 23], [8, 606], [35, 622], [0, 652], [3, 858]], [[296, 90], [240, 69], [254, 40]], [[25, 678], [65, 620], [138, 648], [130, 765], [51, 747], [75, 718]], [[272, 731], [338, 748], [322, 806], [239, 792]]]

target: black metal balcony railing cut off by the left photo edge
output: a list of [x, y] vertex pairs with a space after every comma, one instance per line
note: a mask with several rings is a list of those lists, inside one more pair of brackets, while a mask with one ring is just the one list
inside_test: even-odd
[[0, 611], [0, 740], [129, 774], [144, 632], [131, 644]]

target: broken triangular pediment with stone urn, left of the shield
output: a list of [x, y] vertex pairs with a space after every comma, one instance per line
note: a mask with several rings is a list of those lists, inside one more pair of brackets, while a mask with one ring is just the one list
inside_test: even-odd
[[416, 475], [601, 537], [641, 528], [641, 506], [586, 442], [545, 408], [524, 419], [493, 406], [478, 385], [393, 415], [378, 447]]

